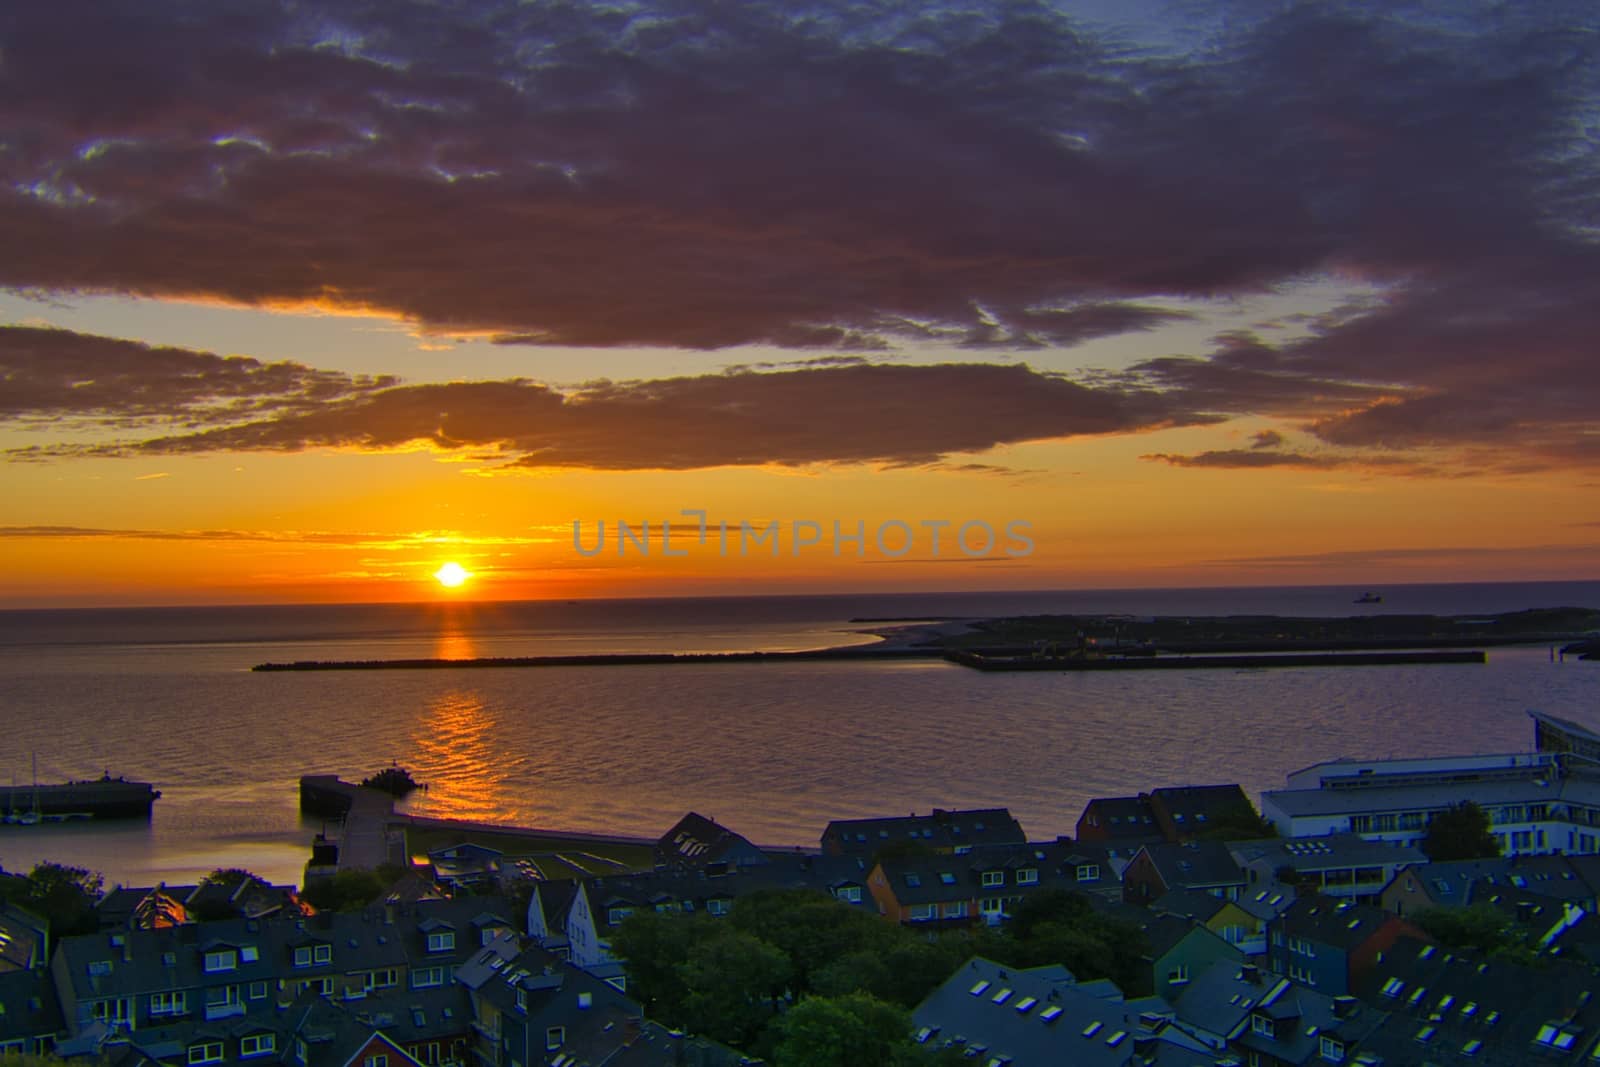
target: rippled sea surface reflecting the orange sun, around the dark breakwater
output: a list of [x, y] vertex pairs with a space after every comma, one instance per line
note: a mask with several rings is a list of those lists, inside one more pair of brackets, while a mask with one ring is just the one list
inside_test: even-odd
[[0, 611], [0, 782], [155, 782], [150, 822], [0, 825], [0, 867], [107, 885], [243, 865], [298, 883], [318, 822], [298, 779], [390, 761], [421, 814], [656, 835], [685, 811], [770, 845], [829, 819], [1003, 805], [1070, 833], [1090, 797], [1334, 757], [1523, 752], [1528, 709], [1600, 726], [1600, 662], [979, 673], [944, 662], [251, 673], [264, 661], [802, 649], [853, 619], [1478, 614], [1600, 606], [1600, 582], [920, 593], [486, 605]]

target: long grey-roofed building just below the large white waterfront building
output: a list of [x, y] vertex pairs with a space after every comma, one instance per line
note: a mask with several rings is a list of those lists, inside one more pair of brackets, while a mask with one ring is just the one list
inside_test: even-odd
[[1251, 883], [1285, 880], [1299, 889], [1362, 904], [1376, 904], [1400, 867], [1427, 862], [1419, 848], [1368, 841], [1355, 833], [1235, 841], [1229, 849]]

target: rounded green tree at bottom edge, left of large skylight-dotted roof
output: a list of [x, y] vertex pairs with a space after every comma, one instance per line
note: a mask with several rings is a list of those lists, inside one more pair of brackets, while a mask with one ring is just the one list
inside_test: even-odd
[[918, 1062], [910, 1016], [867, 993], [808, 997], [774, 1024], [773, 1067]]

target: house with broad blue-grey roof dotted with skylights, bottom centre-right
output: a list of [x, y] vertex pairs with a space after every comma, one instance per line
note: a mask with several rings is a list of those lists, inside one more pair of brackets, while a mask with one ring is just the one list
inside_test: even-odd
[[1064, 966], [1006, 968], [974, 957], [912, 1013], [912, 1037], [1006, 1067], [1214, 1067], [1213, 1049], [1171, 1024], [1160, 1000], [1080, 985]]

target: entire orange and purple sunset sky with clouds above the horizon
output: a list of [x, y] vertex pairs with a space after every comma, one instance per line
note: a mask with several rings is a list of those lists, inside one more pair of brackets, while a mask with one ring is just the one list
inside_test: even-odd
[[1600, 577], [1597, 133], [1587, 0], [6, 5], [0, 606]]

